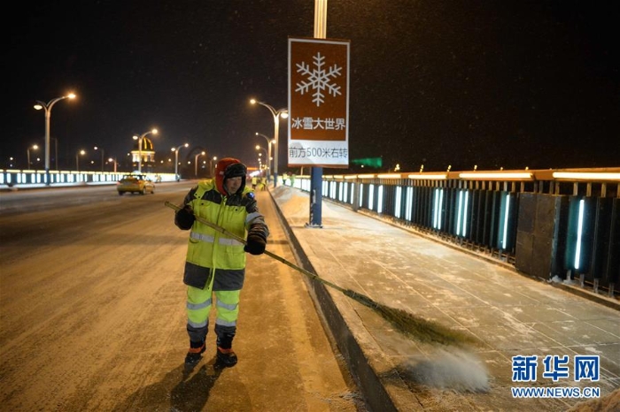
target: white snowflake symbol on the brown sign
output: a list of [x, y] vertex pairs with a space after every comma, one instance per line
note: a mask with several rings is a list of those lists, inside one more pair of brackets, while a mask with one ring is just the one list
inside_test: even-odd
[[312, 101], [316, 103], [316, 107], [319, 107], [321, 103], [325, 103], [323, 90], [327, 89], [329, 95], [333, 95], [334, 97], [341, 94], [340, 86], [337, 86], [332, 80], [341, 74], [342, 67], [332, 65], [328, 70], [325, 70], [323, 68], [323, 65], [325, 65], [325, 57], [321, 56], [320, 52], [317, 53], [313, 59], [313, 69], [310, 68], [310, 65], [306, 65], [306, 63], [303, 62], [297, 64], [297, 72], [301, 73], [306, 79], [297, 83], [295, 91], [303, 95], [312, 88], [314, 90]]

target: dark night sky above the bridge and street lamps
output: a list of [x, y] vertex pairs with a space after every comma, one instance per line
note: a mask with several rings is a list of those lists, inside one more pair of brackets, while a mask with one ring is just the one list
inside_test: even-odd
[[[274, 124], [249, 99], [286, 106], [288, 36], [314, 33], [314, 0], [24, 4], [5, 15], [15, 21], [0, 168], [10, 156], [24, 168], [33, 144], [43, 168], [44, 115], [33, 105], [70, 91], [78, 98], [51, 112], [61, 169], [86, 149], [99, 170], [94, 146], [122, 162], [132, 136], [152, 127], [158, 161], [187, 141], [183, 162], [206, 150], [256, 166], [254, 146], [266, 141], [254, 133]], [[327, 37], [351, 41], [350, 159], [381, 156], [382, 172], [620, 166], [612, 4], [329, 0]], [[280, 129], [282, 174], [285, 121]]]

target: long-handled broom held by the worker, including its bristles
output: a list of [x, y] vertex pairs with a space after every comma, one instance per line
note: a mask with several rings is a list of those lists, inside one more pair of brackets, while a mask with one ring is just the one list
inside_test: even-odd
[[[165, 202], [164, 204], [171, 209], [181, 210], [181, 207], [174, 203]], [[219, 225], [215, 225], [198, 216], [196, 216], [196, 220], [198, 220], [198, 222], [202, 223], [203, 225], [207, 225], [214, 230], [229, 236], [230, 238], [246, 244], [246, 241], [243, 238], [237, 236], [235, 233], [230, 233]], [[329, 282], [329, 280], [321, 278], [319, 275], [311, 271], [306, 271], [306, 269], [301, 268], [298, 265], [284, 259], [282, 256], [277, 256], [274, 253], [269, 252], [268, 250], [265, 250], [264, 253], [265, 255], [274, 258], [278, 262], [284, 263], [292, 269], [303, 273], [308, 278], [312, 278], [321, 282], [323, 285], [332, 287], [337, 291], [341, 292], [342, 294], [345, 294], [345, 296], [350, 297], [354, 301], [357, 301], [362, 305], [375, 310], [377, 314], [381, 315], [381, 317], [384, 317], [385, 320], [390, 322], [390, 324], [392, 324], [392, 326], [394, 326], [398, 332], [402, 333], [408, 338], [421, 340], [422, 342], [440, 343], [443, 345], [459, 345], [463, 342], [475, 341], [468, 335], [448, 329], [441, 324], [430, 322], [426, 319], [423, 319], [422, 317], [414, 317], [412, 314], [408, 313], [405, 310], [385, 306], [381, 303], [378, 303], [377, 301], [373, 301], [371, 298], [364, 294], [360, 294], [351, 289], [345, 289], [344, 287], [337, 286], [336, 284]]]

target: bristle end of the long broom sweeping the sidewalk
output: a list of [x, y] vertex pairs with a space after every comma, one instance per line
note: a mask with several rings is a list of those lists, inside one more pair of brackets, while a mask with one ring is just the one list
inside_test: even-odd
[[422, 342], [440, 343], [442, 345], [461, 345], [473, 343], [475, 340], [468, 335], [446, 328], [441, 324], [430, 322], [422, 317], [415, 317], [402, 309], [395, 309], [373, 301], [368, 296], [358, 294], [351, 289], [345, 289], [345, 295], [360, 302], [362, 305], [374, 309], [385, 320], [390, 322], [396, 330], [408, 338]]

